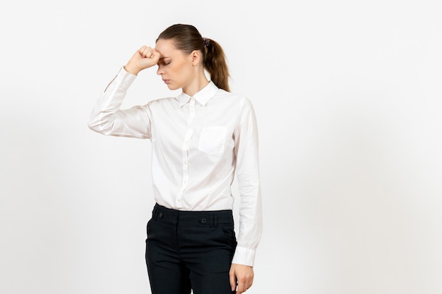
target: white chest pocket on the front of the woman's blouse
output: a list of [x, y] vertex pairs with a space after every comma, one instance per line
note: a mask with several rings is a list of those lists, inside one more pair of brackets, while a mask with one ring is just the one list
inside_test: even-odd
[[212, 126], [203, 128], [198, 142], [198, 149], [207, 154], [219, 154], [224, 152], [227, 128]]

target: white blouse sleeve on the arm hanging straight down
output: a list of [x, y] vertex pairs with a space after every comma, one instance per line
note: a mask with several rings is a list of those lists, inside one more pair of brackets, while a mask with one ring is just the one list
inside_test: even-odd
[[249, 99], [244, 99], [241, 106], [239, 124], [234, 132], [240, 204], [238, 245], [232, 263], [253, 266], [263, 229], [258, 128]]

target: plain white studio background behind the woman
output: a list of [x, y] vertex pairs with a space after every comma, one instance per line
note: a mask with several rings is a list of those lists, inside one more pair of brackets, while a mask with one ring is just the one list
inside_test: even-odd
[[[150, 142], [87, 122], [174, 23], [222, 44], [256, 109], [247, 293], [442, 293], [438, 2], [2, 0], [0, 293], [150, 293]], [[124, 106], [170, 94], [151, 68]]]

